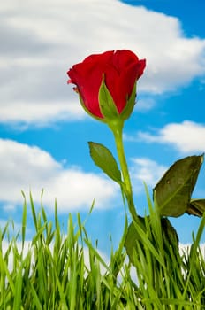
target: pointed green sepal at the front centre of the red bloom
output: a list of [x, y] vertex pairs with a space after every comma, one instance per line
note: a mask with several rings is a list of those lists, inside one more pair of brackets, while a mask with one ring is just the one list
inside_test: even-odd
[[119, 117], [118, 109], [110, 95], [109, 89], [105, 85], [104, 78], [102, 80], [98, 93], [100, 110], [107, 120], [114, 120]]

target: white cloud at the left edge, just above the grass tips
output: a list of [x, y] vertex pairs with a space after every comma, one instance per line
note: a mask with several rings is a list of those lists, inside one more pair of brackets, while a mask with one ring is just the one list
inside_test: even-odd
[[53, 208], [57, 198], [59, 213], [106, 208], [117, 194], [113, 182], [101, 175], [85, 173], [80, 168], [65, 168], [46, 151], [36, 146], [0, 139], [0, 200], [6, 205], [22, 205], [21, 190], [31, 190], [35, 203]]

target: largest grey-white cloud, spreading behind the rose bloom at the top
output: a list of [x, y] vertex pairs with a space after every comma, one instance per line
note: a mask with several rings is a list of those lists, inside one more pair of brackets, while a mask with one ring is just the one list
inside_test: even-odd
[[142, 6], [118, 0], [27, 0], [20, 9], [8, 1], [0, 13], [0, 114], [3, 109], [10, 123], [47, 125], [63, 114], [79, 120], [79, 112], [65, 112], [70, 109], [65, 102], [78, 100], [66, 85], [66, 71], [90, 53], [130, 49], [147, 58], [139, 91], [149, 94], [176, 89], [205, 73], [205, 40], [187, 38], [177, 18]]

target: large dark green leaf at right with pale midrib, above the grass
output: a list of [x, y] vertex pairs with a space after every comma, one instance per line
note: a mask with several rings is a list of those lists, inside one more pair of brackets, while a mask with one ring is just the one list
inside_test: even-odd
[[154, 200], [162, 216], [186, 213], [203, 162], [203, 155], [176, 161], [156, 184]]

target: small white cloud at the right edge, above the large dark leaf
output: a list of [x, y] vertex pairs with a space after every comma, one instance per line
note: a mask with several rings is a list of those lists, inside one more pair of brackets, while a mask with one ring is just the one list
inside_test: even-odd
[[[129, 137], [128, 137], [129, 139]], [[182, 153], [205, 151], [205, 125], [185, 120], [159, 129], [156, 135], [140, 132], [137, 139], [147, 143], [171, 144]]]

